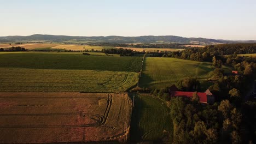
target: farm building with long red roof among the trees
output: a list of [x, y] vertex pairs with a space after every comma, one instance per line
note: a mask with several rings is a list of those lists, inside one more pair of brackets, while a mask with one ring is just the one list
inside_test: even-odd
[[[195, 92], [182, 92], [178, 91], [175, 85], [170, 87], [170, 97], [189, 97], [192, 98]], [[214, 95], [211, 93], [209, 89], [207, 89], [204, 93], [197, 92], [197, 95], [200, 99], [200, 103], [204, 104], [213, 104], [214, 103]]]

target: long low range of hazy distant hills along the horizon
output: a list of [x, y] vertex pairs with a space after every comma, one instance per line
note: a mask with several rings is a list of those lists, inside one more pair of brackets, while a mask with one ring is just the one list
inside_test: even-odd
[[173, 35], [165, 36], [140, 36], [140, 37], [121, 37], [121, 36], [107, 36], [107, 37], [77, 37], [67, 35], [44, 35], [34, 34], [29, 36], [7, 36], [0, 37], [0, 42], [16, 42], [16, 41], [48, 41], [61, 43], [159, 43], [159, 44], [232, 44], [232, 43], [256, 43], [256, 40], [248, 41], [234, 41], [234, 40], [217, 40], [206, 38], [184, 38]]

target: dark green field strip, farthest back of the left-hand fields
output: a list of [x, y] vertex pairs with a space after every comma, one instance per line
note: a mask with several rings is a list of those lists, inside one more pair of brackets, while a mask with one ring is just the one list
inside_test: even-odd
[[[0, 52], [1, 53], [1, 52]], [[142, 57], [88, 56], [81, 54], [59, 55], [40, 52], [20, 52], [0, 55], [0, 68], [35, 69], [86, 69], [138, 72]]]

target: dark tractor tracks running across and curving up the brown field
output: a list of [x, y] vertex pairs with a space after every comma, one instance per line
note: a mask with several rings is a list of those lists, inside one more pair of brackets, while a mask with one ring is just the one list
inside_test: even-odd
[[[1, 98], [1, 97], [0, 97]], [[4, 97], [6, 98], [6, 97]], [[8, 97], [13, 98], [13, 97]], [[30, 97], [31, 98], [31, 97]], [[34, 97], [33, 97], [34, 98]], [[112, 94], [108, 94], [107, 107], [104, 111], [104, 115], [98, 115], [96, 113], [82, 113], [82, 112], [68, 112], [68, 113], [19, 113], [19, 114], [0, 114], [0, 117], [19, 117], [19, 116], [65, 116], [65, 115], [78, 115], [95, 117], [95, 123], [89, 124], [73, 124], [73, 125], [0, 125], [0, 128], [72, 128], [72, 127], [99, 127], [104, 125], [107, 121], [110, 108], [112, 106]]]

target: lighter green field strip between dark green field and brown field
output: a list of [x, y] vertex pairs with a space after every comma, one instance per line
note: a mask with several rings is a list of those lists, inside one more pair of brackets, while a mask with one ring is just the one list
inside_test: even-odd
[[0, 68], [2, 92], [124, 92], [137, 81], [125, 71]]

